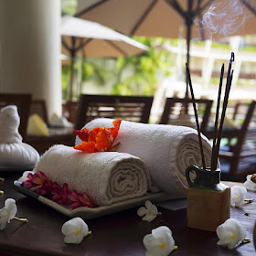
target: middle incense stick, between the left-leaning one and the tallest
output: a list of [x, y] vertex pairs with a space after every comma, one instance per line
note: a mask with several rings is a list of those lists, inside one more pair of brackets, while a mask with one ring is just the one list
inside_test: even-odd
[[218, 133], [218, 121], [219, 121], [219, 105], [220, 105], [220, 97], [221, 97], [221, 90], [222, 90], [222, 83], [223, 83], [223, 75], [224, 75], [224, 64], [222, 64], [220, 70], [220, 78], [219, 78], [219, 92], [218, 92], [218, 101], [217, 101], [217, 108], [215, 113], [215, 123], [214, 123], [214, 135], [213, 135], [213, 143], [212, 143], [212, 152], [211, 152], [211, 170], [214, 171], [214, 159], [215, 159], [215, 151], [216, 151], [216, 140], [217, 140], [217, 133]]

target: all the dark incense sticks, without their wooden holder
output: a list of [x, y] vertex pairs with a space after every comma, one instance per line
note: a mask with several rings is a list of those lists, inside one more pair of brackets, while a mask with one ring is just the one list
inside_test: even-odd
[[[219, 93], [218, 93], [217, 109], [216, 109], [216, 116], [215, 116], [215, 123], [214, 123], [214, 137], [213, 137], [211, 165], [210, 165], [211, 171], [216, 170], [217, 165], [218, 165], [219, 145], [220, 145], [220, 140], [221, 140], [221, 133], [222, 133], [223, 123], [224, 123], [224, 119], [225, 119], [225, 114], [226, 114], [228, 101], [229, 101], [229, 91], [230, 91], [232, 79], [233, 79], [233, 71], [234, 70], [231, 71], [231, 67], [232, 67], [232, 62], [234, 60], [235, 60], [235, 55], [233, 52], [231, 52], [231, 58], [229, 60], [229, 69], [228, 69], [227, 81], [226, 81], [225, 95], [224, 95], [222, 112], [221, 112], [221, 117], [220, 117], [220, 122], [219, 122], [219, 105], [220, 105], [220, 97], [221, 97], [223, 75], [224, 75], [224, 64], [222, 64], [221, 71], [220, 71]], [[199, 126], [199, 122], [198, 122], [196, 101], [195, 101], [193, 86], [192, 86], [192, 82], [191, 82], [191, 78], [190, 78], [190, 71], [189, 71], [188, 67], [187, 67], [187, 80], [188, 80], [188, 85], [190, 88], [190, 93], [191, 93], [191, 98], [192, 98], [192, 102], [193, 102], [193, 108], [194, 108], [195, 118], [196, 118], [196, 123], [197, 123], [197, 134], [198, 134], [198, 141], [199, 141], [199, 146], [200, 146], [200, 154], [202, 157], [202, 166], [204, 169], [206, 169], [206, 161], [205, 161], [205, 156], [204, 156], [204, 151], [203, 151], [200, 126]], [[218, 129], [218, 124], [219, 124], [219, 129]]]

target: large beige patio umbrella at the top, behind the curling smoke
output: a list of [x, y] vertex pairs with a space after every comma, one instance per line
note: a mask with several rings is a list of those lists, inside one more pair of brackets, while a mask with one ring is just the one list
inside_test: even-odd
[[189, 67], [192, 38], [256, 34], [255, 16], [251, 14], [254, 3], [255, 0], [80, 0], [76, 16], [129, 36], [177, 38], [179, 27], [184, 26]]

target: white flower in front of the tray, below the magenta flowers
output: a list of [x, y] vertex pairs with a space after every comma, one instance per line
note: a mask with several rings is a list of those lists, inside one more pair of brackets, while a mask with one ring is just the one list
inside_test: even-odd
[[61, 228], [66, 243], [80, 243], [89, 233], [87, 224], [80, 217], [69, 219]]

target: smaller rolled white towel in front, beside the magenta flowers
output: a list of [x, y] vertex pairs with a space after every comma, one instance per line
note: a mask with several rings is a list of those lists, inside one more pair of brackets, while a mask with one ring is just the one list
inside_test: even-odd
[[146, 165], [136, 156], [86, 153], [61, 144], [48, 149], [37, 163], [37, 171], [60, 186], [67, 183], [69, 190], [86, 192], [99, 206], [144, 196], [150, 178]]

